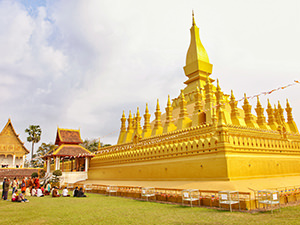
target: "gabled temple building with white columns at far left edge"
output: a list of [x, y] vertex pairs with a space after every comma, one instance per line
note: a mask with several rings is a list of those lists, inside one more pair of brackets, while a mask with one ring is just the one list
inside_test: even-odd
[[25, 156], [29, 151], [16, 133], [11, 120], [8, 119], [0, 133], [0, 165], [1, 168], [24, 167]]

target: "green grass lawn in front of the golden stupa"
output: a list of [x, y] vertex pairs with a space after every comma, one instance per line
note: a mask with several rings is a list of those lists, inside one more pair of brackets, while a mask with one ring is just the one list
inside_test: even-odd
[[300, 206], [271, 212], [228, 212], [88, 194], [87, 198], [0, 200], [1, 224], [300, 224]]

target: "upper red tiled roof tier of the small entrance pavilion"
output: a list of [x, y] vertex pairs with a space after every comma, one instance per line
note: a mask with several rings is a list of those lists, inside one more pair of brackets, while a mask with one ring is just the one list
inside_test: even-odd
[[63, 143], [82, 143], [80, 137], [80, 130], [70, 130], [70, 129], [57, 129], [56, 141], [55, 144], [63, 144]]

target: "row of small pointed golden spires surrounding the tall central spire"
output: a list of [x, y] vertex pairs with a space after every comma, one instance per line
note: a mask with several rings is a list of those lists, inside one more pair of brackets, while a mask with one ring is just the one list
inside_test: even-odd
[[[270, 101], [268, 99], [267, 114], [268, 122], [266, 122], [266, 117], [264, 116], [264, 108], [262, 107], [259, 97], [257, 96], [256, 104], [256, 114], [257, 117], [251, 113], [252, 106], [249, 104], [248, 98], [245, 94], [244, 104], [242, 106], [244, 116], [240, 115], [242, 111], [237, 107], [238, 101], [236, 101], [233, 91], [231, 91], [230, 101], [226, 102], [224, 94], [221, 91], [219, 81], [217, 80], [216, 91], [213, 91], [213, 85], [210, 79], [207, 79], [206, 85], [204, 86], [205, 98], [202, 93], [202, 89], [196, 87], [196, 92], [194, 94], [194, 111], [192, 114], [187, 113], [185, 100], [185, 95], [181, 90], [179, 96], [179, 107], [180, 113], [178, 119], [173, 119], [173, 107], [171, 105], [170, 96], [168, 96], [166, 117], [164, 125], [161, 121], [161, 111], [159, 100], [157, 99], [155, 120], [153, 121], [153, 128], [151, 129], [150, 117], [148, 104], [146, 103], [146, 109], [144, 114], [144, 126], [141, 127], [141, 115], [139, 108], [137, 108], [136, 115], [132, 116], [131, 111], [129, 111], [129, 117], [126, 119], [125, 112], [123, 111], [121, 118], [121, 131], [119, 135], [118, 144], [128, 143], [135, 141], [134, 138], [147, 138], [151, 136], [157, 136], [163, 133], [168, 133], [174, 130], [181, 130], [188, 127], [199, 126], [201, 124], [212, 124], [215, 123], [219, 116], [219, 111], [222, 109], [222, 116], [225, 124], [233, 124], [239, 126], [247, 126], [253, 128], [261, 128], [267, 130], [278, 130], [283, 129], [284, 132], [298, 133], [297, 126], [293, 120], [292, 108], [287, 100], [285, 111], [287, 112], [287, 121], [284, 118], [284, 109], [282, 108], [280, 102], [278, 105], [274, 105], [272, 108]], [[203, 99], [204, 104], [203, 104]], [[226, 104], [230, 105], [230, 113], [226, 110]], [[127, 121], [127, 127], [126, 127]], [[176, 123], [176, 125], [174, 124]]]

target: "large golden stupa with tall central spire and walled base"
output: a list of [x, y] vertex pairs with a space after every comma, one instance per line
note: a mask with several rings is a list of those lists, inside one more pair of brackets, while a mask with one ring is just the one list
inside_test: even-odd
[[[213, 66], [200, 41], [194, 16], [184, 73], [186, 87], [157, 100], [150, 122], [148, 105], [125, 112], [117, 145], [101, 148], [91, 160], [92, 180], [228, 181], [300, 175], [300, 135], [288, 100], [238, 107], [211, 78]], [[255, 110], [256, 115], [252, 114]], [[284, 117], [286, 111], [287, 118]], [[265, 116], [267, 114], [267, 118]], [[134, 115], [134, 116], [133, 116]]]

